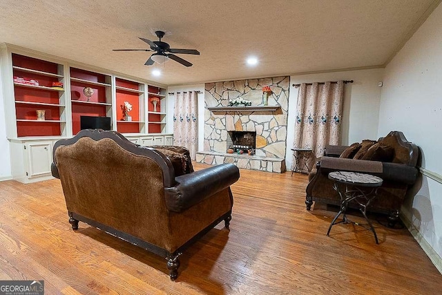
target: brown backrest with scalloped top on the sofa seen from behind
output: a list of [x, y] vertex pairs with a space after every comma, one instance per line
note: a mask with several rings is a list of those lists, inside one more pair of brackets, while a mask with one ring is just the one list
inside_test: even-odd
[[81, 131], [55, 144], [54, 164], [68, 211], [165, 247], [164, 187], [175, 177], [164, 155], [111, 131]]

